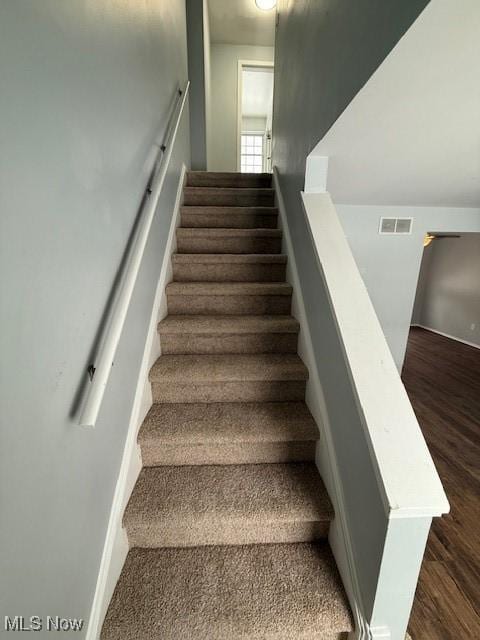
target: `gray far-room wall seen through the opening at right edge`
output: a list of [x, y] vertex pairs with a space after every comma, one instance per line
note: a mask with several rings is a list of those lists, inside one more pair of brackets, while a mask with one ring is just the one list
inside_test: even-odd
[[479, 234], [425, 248], [412, 322], [480, 346]]

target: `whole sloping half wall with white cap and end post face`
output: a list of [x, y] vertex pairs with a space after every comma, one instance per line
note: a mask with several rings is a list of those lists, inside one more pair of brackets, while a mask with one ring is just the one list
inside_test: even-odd
[[330, 541], [356, 612], [350, 637], [403, 640], [432, 517], [449, 505], [330, 195], [302, 201], [311, 249], [307, 235], [301, 251], [313, 251], [302, 288], [321, 347]]

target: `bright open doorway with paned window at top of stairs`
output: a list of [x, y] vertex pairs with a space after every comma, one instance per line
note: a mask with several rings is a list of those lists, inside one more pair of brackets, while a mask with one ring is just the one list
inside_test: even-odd
[[271, 173], [273, 62], [238, 61], [237, 170]]

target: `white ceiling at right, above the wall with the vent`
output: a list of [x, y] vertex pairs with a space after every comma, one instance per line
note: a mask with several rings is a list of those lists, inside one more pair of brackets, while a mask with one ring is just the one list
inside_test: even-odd
[[480, 206], [480, 2], [435, 0], [313, 151], [342, 204]]

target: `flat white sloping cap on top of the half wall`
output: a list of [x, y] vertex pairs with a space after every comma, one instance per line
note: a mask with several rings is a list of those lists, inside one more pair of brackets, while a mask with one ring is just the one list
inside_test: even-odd
[[385, 512], [446, 513], [445, 492], [330, 195], [302, 198]]

